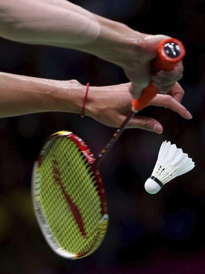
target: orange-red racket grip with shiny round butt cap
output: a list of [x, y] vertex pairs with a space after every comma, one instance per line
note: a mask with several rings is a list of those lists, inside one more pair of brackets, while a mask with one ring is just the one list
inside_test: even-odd
[[[168, 38], [161, 41], [152, 67], [153, 72], [156, 73], [161, 69], [174, 69], [175, 65], [184, 58], [184, 55], [185, 48], [179, 40]], [[148, 87], [142, 91], [141, 97], [132, 101], [132, 110], [138, 112], [147, 107], [157, 93], [158, 89], [152, 85], [151, 81]]]

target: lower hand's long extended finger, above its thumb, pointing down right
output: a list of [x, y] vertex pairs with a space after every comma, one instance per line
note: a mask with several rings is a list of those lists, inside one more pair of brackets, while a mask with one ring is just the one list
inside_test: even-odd
[[179, 113], [185, 119], [192, 118], [191, 113], [184, 106], [182, 106], [173, 97], [167, 94], [165, 95], [157, 94], [155, 98], [152, 100], [151, 105], [156, 107], [169, 108], [170, 110], [173, 110]]

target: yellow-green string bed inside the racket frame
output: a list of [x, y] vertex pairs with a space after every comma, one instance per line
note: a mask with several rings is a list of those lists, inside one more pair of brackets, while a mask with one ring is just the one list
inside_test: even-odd
[[98, 237], [102, 215], [95, 177], [85, 156], [72, 140], [60, 137], [51, 144], [38, 169], [42, 182], [39, 202], [52, 236], [70, 253], [90, 250]]

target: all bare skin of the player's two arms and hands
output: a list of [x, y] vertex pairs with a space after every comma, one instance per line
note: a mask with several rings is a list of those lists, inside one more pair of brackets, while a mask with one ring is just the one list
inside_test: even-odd
[[[60, 18], [60, 20], [59, 20]], [[166, 107], [186, 119], [191, 114], [180, 104], [184, 91], [177, 83], [180, 62], [172, 71], [151, 74], [151, 62], [163, 35], [148, 35], [93, 14], [65, 0], [0, 0], [0, 36], [13, 41], [70, 48], [119, 65], [131, 83], [90, 87], [85, 114], [118, 127], [150, 81], [160, 93], [151, 105]], [[33, 112], [81, 113], [86, 87], [75, 80], [55, 81], [0, 73], [0, 117]], [[162, 132], [161, 124], [135, 116], [128, 127]]]

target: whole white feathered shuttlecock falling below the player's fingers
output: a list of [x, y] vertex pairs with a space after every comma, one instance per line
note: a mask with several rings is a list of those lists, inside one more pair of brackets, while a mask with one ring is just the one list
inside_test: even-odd
[[164, 141], [159, 149], [152, 176], [145, 182], [145, 189], [148, 193], [155, 194], [164, 184], [194, 167], [195, 163], [182, 149]]

